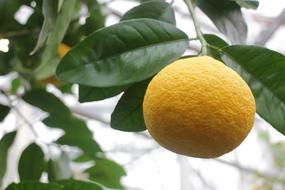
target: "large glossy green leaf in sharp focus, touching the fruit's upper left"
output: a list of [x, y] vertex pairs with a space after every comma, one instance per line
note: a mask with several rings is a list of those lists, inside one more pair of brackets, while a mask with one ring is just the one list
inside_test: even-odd
[[179, 58], [187, 35], [153, 19], [135, 19], [100, 29], [62, 59], [57, 76], [64, 81], [113, 87], [142, 81]]

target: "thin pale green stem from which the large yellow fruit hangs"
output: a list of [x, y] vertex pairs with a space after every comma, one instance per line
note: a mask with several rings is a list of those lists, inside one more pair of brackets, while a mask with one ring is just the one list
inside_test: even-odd
[[200, 24], [198, 22], [198, 19], [194, 11], [193, 3], [191, 2], [191, 0], [184, 0], [184, 2], [187, 5], [189, 13], [193, 19], [193, 24], [196, 30], [197, 38], [199, 39], [201, 46], [202, 46], [200, 54], [207, 55], [207, 41], [205, 40], [203, 33], [201, 31]]

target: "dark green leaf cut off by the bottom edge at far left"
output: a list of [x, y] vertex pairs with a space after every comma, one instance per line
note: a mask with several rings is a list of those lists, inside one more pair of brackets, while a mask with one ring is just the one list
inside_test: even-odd
[[56, 183], [21, 182], [11, 184], [5, 190], [63, 190], [63, 186]]

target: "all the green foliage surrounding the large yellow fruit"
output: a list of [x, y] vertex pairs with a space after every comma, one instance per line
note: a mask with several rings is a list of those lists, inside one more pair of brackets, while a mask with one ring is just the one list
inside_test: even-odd
[[[285, 134], [285, 57], [266, 48], [241, 45], [247, 38], [241, 8], [256, 9], [258, 1], [193, 0], [193, 3], [226, 36], [223, 40], [204, 34], [207, 54], [222, 60], [244, 78], [256, 98], [257, 113]], [[23, 24], [14, 16], [24, 5], [32, 14]], [[10, 42], [7, 53], [0, 51], [0, 74], [17, 73], [11, 89], [1, 92], [10, 103], [9, 97], [16, 96], [42, 110], [47, 114], [42, 124], [64, 133], [44, 145], [35, 137], [20, 156], [20, 183], [11, 184], [6, 190], [123, 189], [121, 178], [126, 175], [123, 167], [107, 157], [86, 121], [49, 93], [47, 85], [54, 84], [62, 93], [71, 94], [71, 87], [79, 85], [80, 102], [99, 101], [123, 93], [112, 113], [111, 127], [143, 131], [146, 128], [142, 102], [148, 82], [163, 67], [183, 58], [191, 39], [177, 28], [171, 3], [138, 1], [137, 6], [111, 26], [105, 26], [106, 6], [96, 0], [0, 2], [0, 39]], [[82, 7], [88, 12], [83, 24]], [[63, 58], [58, 52], [60, 44], [72, 47]], [[1, 121], [10, 109], [14, 109], [12, 104], [0, 105]], [[33, 124], [27, 125], [33, 128]], [[0, 140], [0, 181], [16, 134], [17, 130]], [[76, 147], [81, 155], [71, 158], [64, 146]], [[50, 155], [47, 151], [50, 147], [57, 148], [60, 155]], [[90, 182], [74, 180], [70, 164], [81, 163], [80, 158], [93, 163], [83, 171]], [[48, 175], [45, 183], [40, 180], [44, 172]]]

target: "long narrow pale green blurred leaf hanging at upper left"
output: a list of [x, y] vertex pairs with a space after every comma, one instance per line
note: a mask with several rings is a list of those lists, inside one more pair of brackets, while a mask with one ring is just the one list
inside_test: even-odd
[[62, 8], [57, 14], [56, 21], [46, 41], [40, 65], [35, 71], [37, 79], [45, 79], [55, 74], [59, 62], [57, 49], [61, 43], [76, 8], [77, 0], [63, 1]]

